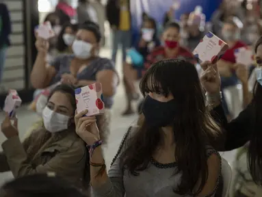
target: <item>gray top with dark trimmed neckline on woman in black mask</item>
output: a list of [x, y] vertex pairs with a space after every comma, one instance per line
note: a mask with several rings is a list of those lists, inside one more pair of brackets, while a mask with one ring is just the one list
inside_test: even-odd
[[[137, 127], [132, 127], [127, 132], [118, 153], [121, 153], [127, 147], [130, 136], [137, 130]], [[207, 155], [212, 153], [218, 154], [210, 146], [207, 148]], [[148, 168], [140, 172], [139, 176], [128, 174], [122, 170], [120, 166], [120, 154], [116, 157], [112, 164], [108, 176], [109, 180], [100, 188], [92, 188], [92, 196], [94, 197], [181, 197], [179, 194], [174, 194], [173, 189], [179, 185], [181, 181], [181, 174], [175, 174], [176, 163], [161, 164], [152, 159]], [[216, 189], [208, 195], [209, 197], [215, 196]], [[183, 197], [190, 197], [189, 195]]]

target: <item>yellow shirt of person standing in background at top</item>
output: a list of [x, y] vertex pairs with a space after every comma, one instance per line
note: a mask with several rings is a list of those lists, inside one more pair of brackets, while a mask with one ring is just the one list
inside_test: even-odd
[[129, 1], [121, 0], [120, 1], [120, 23], [119, 29], [122, 31], [129, 31], [131, 29], [130, 24], [130, 13], [129, 13]]

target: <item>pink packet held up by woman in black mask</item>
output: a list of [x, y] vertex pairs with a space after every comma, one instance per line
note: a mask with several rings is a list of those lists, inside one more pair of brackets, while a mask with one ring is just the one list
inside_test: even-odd
[[97, 116], [105, 112], [101, 83], [94, 83], [75, 90], [77, 112], [88, 109], [86, 116]]

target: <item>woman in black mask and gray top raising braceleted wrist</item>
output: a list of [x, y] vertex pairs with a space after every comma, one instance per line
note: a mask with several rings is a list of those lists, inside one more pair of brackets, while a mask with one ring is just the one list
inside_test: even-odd
[[75, 116], [88, 144], [94, 196], [214, 196], [220, 155], [209, 146], [220, 129], [209, 116], [194, 64], [162, 60], [144, 75], [141, 126], [126, 133], [107, 173], [94, 117]]

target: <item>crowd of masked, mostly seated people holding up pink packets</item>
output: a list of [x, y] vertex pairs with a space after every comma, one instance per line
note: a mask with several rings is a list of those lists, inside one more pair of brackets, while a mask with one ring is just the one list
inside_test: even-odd
[[[7, 114], [1, 124], [7, 140], [0, 153], [0, 172], [11, 171], [15, 179], [3, 185], [0, 196], [218, 197], [225, 178], [218, 151], [236, 148], [241, 149], [233, 196], [262, 195], [262, 37], [256, 21], [260, 16], [248, 9], [248, 1], [234, 9], [226, 3], [213, 13], [211, 25], [199, 6], [182, 14], [180, 21], [172, 17], [173, 6], [163, 24], [144, 13], [131, 48], [129, 1], [109, 0], [109, 60], [99, 55], [105, 38], [94, 4], [79, 1], [75, 10], [60, 1], [44, 19], [51, 22], [55, 36], [44, 40], [35, 35], [38, 55], [30, 76], [36, 88], [31, 109], [40, 120], [25, 140], [18, 137], [16, 118], [10, 120]], [[215, 63], [200, 62], [192, 54], [207, 31], [229, 47]], [[122, 80], [115, 66], [118, 44]], [[237, 63], [234, 51], [241, 47], [253, 47], [252, 65]], [[96, 82], [103, 86], [105, 114], [85, 116], [87, 110], [77, 111], [75, 88]], [[123, 116], [135, 112], [133, 100], [141, 94], [143, 99], [137, 125], [127, 129], [111, 166], [105, 166], [101, 147], [107, 144], [119, 83], [127, 96]], [[242, 87], [243, 111], [234, 119], [224, 90], [237, 84]], [[47, 98], [40, 99], [42, 94]]]

